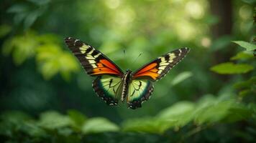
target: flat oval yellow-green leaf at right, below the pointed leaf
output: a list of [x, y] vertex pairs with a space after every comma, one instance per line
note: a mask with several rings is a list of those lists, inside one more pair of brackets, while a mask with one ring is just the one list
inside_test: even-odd
[[217, 64], [211, 67], [211, 71], [218, 74], [245, 74], [252, 71], [253, 66], [250, 64], [233, 64], [232, 62]]

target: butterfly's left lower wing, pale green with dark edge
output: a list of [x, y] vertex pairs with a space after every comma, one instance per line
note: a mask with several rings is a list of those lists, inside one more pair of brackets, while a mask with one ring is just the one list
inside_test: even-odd
[[109, 75], [99, 76], [93, 81], [94, 91], [106, 104], [116, 105], [118, 103], [122, 79]]

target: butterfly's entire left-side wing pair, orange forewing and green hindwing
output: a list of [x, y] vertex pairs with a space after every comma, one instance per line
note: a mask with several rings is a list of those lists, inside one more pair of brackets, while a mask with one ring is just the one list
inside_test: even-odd
[[123, 72], [108, 57], [97, 49], [79, 39], [68, 37], [65, 39], [68, 48], [73, 52], [86, 73], [97, 77], [93, 81], [93, 89], [101, 99], [109, 105], [116, 105], [120, 87], [122, 87]]

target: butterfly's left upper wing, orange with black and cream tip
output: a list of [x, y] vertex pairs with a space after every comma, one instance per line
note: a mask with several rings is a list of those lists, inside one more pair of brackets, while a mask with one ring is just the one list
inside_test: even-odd
[[66, 38], [65, 43], [90, 76], [110, 74], [122, 77], [122, 70], [116, 66], [113, 61], [92, 46], [72, 37]]

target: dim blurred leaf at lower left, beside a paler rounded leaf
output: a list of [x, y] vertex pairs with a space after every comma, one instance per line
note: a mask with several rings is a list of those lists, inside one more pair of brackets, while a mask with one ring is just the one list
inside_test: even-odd
[[49, 111], [40, 114], [38, 125], [40, 127], [45, 127], [46, 129], [58, 129], [70, 125], [70, 119], [58, 112]]

